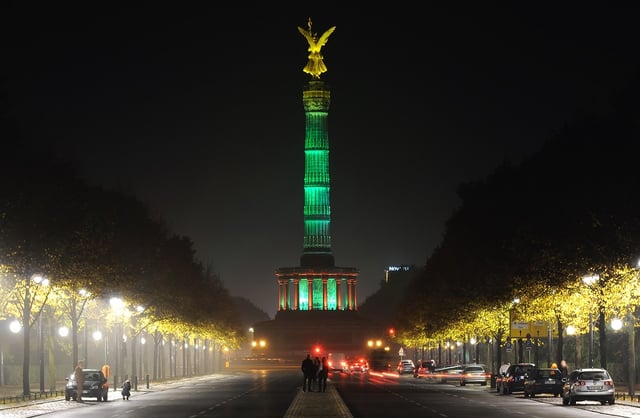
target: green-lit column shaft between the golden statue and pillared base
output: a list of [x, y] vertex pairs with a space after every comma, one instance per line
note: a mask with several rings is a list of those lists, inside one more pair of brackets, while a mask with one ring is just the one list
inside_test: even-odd
[[304, 141], [304, 253], [301, 267], [333, 267], [329, 176], [330, 91], [320, 80], [310, 81], [302, 93], [306, 115]]

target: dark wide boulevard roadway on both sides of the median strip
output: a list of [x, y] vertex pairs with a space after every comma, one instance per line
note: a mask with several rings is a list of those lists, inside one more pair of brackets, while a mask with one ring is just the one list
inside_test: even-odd
[[[640, 417], [638, 402], [615, 405], [579, 402], [563, 406], [560, 398], [522, 394], [500, 395], [494, 388], [464, 387], [398, 376], [393, 373], [332, 373], [332, 390], [302, 392], [302, 375], [297, 367], [229, 370], [225, 373], [185, 379], [160, 385], [149, 391], [133, 392], [122, 400], [111, 392], [108, 402], [83, 403], [56, 399], [41, 404], [6, 408], [3, 417], [287, 417], [313, 415], [304, 408], [338, 402], [355, 418], [402, 417]], [[298, 404], [298, 408], [292, 405]], [[296, 410], [295, 414], [293, 410]], [[296, 415], [297, 414], [297, 415]], [[326, 415], [325, 415], [326, 416]]]

